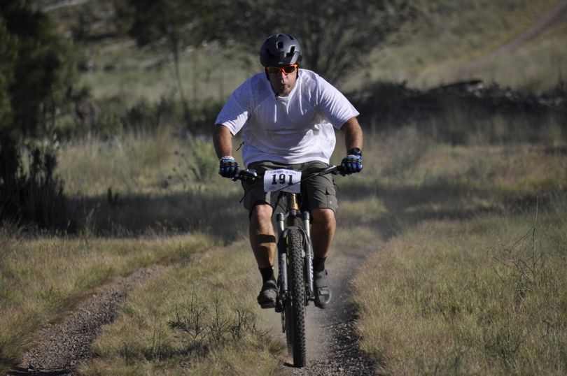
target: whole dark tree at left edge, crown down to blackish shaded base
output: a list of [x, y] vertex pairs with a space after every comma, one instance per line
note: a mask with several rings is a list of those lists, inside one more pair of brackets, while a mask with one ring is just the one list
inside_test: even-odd
[[47, 15], [24, 0], [0, 5], [0, 222], [64, 228], [56, 159], [34, 148], [23, 163], [22, 140], [54, 131], [70, 102], [73, 55]]

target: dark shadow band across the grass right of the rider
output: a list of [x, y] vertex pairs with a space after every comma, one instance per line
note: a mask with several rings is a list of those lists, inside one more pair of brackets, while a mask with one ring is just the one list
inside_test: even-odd
[[[388, 240], [427, 220], [465, 220], [481, 215], [503, 215], [510, 212], [535, 213], [553, 205], [556, 195], [567, 191], [545, 191], [534, 194], [512, 195], [489, 187], [478, 189], [466, 183], [437, 180], [421, 186], [368, 185], [367, 182], [349, 182], [349, 188], [340, 192], [343, 201], [358, 201], [375, 196], [386, 208], [383, 215], [363, 221]], [[360, 221], [344, 219], [342, 226], [359, 226]]]

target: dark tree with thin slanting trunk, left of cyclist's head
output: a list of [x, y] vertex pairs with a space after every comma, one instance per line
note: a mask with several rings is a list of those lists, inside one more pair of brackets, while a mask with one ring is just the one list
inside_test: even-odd
[[179, 95], [186, 122], [190, 124], [189, 106], [179, 71], [181, 52], [199, 46], [210, 35], [214, 1], [207, 0], [129, 0], [133, 22], [130, 35], [139, 46], [165, 45], [172, 54]]

